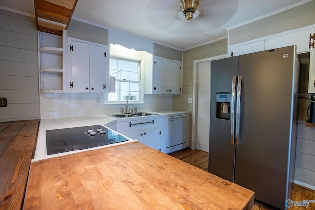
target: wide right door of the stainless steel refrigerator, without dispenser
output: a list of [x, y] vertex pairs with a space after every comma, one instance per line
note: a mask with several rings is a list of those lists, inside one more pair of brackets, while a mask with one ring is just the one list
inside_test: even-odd
[[238, 62], [243, 79], [235, 183], [254, 191], [256, 199], [281, 209], [286, 200], [290, 145], [295, 132], [294, 49], [241, 55]]

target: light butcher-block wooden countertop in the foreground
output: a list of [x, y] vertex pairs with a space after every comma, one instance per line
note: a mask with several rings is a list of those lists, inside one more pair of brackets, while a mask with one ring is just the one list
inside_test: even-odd
[[24, 209], [251, 209], [254, 192], [141, 143], [31, 164]]

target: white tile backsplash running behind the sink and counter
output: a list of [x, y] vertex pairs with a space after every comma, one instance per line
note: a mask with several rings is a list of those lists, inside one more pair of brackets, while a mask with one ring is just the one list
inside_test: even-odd
[[[124, 104], [103, 104], [101, 93], [41, 93], [41, 119], [97, 116], [120, 113]], [[98, 102], [100, 101], [100, 103]], [[138, 112], [173, 109], [172, 95], [145, 95], [143, 104], [131, 104]]]

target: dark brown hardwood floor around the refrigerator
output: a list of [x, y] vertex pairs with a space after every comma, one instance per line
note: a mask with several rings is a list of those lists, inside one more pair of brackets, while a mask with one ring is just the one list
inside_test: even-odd
[[[169, 154], [177, 159], [187, 162], [197, 168], [208, 171], [208, 152], [201, 150], [191, 150], [189, 147], [183, 150], [179, 150]], [[303, 201], [303, 200], [315, 200], [315, 192], [304, 189], [300, 186], [294, 185], [292, 190], [291, 200]], [[267, 206], [261, 202], [255, 201], [252, 210], [274, 210], [272, 206]], [[292, 206], [289, 210], [315, 210], [315, 203], [310, 203], [308, 208]]]

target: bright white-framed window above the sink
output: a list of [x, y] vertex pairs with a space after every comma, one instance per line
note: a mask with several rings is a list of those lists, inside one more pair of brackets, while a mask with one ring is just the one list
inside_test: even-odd
[[110, 57], [109, 75], [116, 77], [116, 89], [109, 93], [108, 102], [140, 102], [140, 61]]

